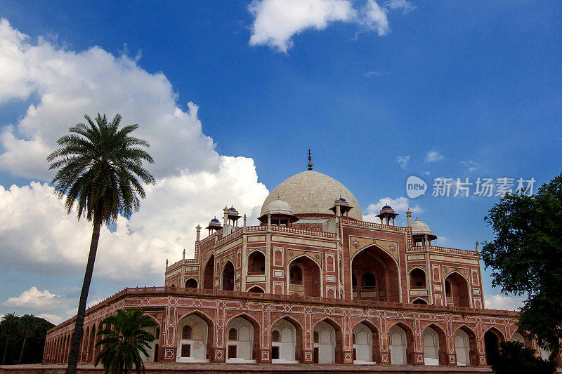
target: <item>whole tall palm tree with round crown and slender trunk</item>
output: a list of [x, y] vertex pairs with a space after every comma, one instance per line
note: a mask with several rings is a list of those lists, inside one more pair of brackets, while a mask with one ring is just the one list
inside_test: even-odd
[[55, 185], [59, 198], [65, 199], [67, 213], [70, 214], [76, 205], [78, 220], [85, 216], [86, 220], [93, 222], [86, 274], [68, 358], [69, 374], [76, 373], [100, 227], [115, 222], [118, 215], [129, 217], [138, 210], [137, 195], [144, 199], [145, 191], [137, 178], [146, 184], [155, 183], [155, 178], [143, 167], [143, 161], [154, 162], [152, 156], [141, 148], [150, 145], [131, 136], [138, 125], [119, 129], [119, 114], [110, 122], [105, 114], [101, 116], [99, 113], [94, 121], [87, 115], [84, 118], [86, 124], [78, 123], [71, 127], [70, 134], [57, 141], [60, 148], [47, 156], [47, 161], [51, 162], [49, 170], [58, 169], [51, 183]]

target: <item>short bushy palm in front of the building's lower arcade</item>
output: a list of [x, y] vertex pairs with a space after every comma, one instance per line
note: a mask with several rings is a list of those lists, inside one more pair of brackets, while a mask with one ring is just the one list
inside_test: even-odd
[[158, 326], [157, 323], [142, 310], [130, 309], [125, 312], [117, 310], [117, 314], [108, 316], [102, 322], [105, 326], [97, 335], [103, 339], [97, 344], [103, 346], [96, 357], [94, 366], [103, 364], [105, 374], [130, 374], [135, 366], [136, 374], [145, 372], [145, 365], [141, 353], [148, 358], [147, 348], [155, 340], [154, 335], [143, 330]]

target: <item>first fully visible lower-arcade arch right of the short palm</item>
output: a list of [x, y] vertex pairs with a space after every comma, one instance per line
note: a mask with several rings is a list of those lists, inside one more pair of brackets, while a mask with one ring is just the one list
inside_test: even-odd
[[208, 342], [213, 341], [211, 320], [198, 312], [184, 316], [177, 324], [177, 362], [209, 362]]

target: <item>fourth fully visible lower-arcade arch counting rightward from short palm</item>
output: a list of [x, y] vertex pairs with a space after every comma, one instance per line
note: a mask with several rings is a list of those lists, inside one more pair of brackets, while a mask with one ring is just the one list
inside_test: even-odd
[[316, 323], [313, 330], [314, 363], [342, 363], [341, 328], [331, 319]]

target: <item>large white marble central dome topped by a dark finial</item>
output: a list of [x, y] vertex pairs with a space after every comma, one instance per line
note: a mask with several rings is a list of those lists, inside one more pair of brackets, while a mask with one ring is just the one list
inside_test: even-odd
[[363, 215], [359, 203], [346, 186], [334, 178], [312, 170], [293, 175], [275, 187], [266, 201], [263, 201], [260, 215], [264, 215], [269, 209], [269, 204], [277, 199], [289, 203], [297, 216], [307, 213], [333, 215], [329, 208], [334, 206], [334, 200], [339, 199], [340, 196], [353, 206], [349, 211], [349, 217], [362, 221]]

